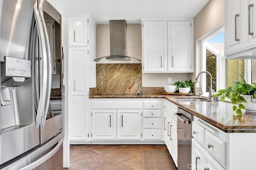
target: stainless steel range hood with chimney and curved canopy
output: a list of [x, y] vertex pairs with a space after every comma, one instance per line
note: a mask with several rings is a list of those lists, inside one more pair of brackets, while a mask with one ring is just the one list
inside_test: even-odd
[[127, 56], [126, 20], [110, 20], [110, 56], [95, 59], [97, 63], [140, 63]]

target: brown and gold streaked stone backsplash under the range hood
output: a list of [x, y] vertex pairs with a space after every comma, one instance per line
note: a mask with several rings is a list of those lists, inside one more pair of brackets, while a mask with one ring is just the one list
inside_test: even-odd
[[96, 64], [96, 89], [90, 95], [136, 94], [142, 94], [141, 64]]

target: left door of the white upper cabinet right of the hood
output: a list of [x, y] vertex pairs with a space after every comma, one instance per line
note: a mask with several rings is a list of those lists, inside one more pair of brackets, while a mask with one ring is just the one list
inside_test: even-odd
[[166, 72], [166, 21], [144, 21], [143, 72]]

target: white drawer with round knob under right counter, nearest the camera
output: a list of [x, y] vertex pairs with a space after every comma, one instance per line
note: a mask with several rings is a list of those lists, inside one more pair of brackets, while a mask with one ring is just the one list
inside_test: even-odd
[[212, 133], [205, 131], [205, 146], [214, 158], [222, 165], [226, 165], [226, 142], [216, 137]]

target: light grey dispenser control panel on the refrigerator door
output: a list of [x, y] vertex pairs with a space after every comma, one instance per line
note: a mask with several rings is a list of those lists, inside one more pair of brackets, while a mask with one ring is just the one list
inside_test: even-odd
[[31, 62], [29, 60], [5, 57], [5, 76], [31, 77]]

